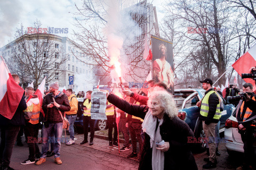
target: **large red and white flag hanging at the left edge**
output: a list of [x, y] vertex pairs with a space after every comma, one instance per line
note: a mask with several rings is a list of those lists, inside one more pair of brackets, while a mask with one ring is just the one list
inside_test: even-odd
[[13, 80], [2, 56], [0, 58], [0, 75], [0, 114], [11, 120], [19, 106], [24, 90]]

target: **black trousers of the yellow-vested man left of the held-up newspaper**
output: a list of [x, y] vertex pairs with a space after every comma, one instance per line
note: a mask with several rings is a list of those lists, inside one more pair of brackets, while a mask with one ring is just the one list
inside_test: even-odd
[[94, 138], [94, 122], [95, 120], [91, 119], [91, 116], [83, 116], [83, 125], [84, 125], [84, 140], [88, 141], [88, 127], [90, 123], [90, 132], [91, 132], [91, 139], [90, 141], [93, 141]]

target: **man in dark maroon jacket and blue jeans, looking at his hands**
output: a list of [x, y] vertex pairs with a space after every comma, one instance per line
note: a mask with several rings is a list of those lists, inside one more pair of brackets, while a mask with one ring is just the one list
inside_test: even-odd
[[[50, 94], [46, 95], [43, 100], [43, 110], [45, 113], [45, 122], [43, 125], [43, 142], [42, 142], [42, 155], [40, 159], [36, 162], [36, 165], [40, 165], [46, 161], [47, 155], [47, 141], [51, 136], [51, 131], [54, 131], [55, 141], [54, 153], [55, 153], [55, 163], [62, 164], [60, 160], [60, 143], [62, 134], [62, 116], [65, 112], [70, 111], [70, 105], [67, 95], [59, 91], [59, 83], [50, 84]], [[50, 141], [51, 142], [51, 141]]]

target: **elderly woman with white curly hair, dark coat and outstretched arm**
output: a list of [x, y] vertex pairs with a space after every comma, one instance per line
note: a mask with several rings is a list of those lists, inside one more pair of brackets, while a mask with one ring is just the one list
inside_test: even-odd
[[107, 96], [108, 101], [122, 111], [144, 120], [145, 140], [139, 169], [197, 169], [188, 142], [194, 134], [188, 124], [178, 118], [178, 110], [168, 92], [153, 92], [148, 106], [130, 104], [114, 94]]

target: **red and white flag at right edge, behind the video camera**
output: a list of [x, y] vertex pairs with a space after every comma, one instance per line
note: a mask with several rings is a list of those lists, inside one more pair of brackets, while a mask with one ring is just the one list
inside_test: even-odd
[[[249, 73], [249, 69], [256, 66], [256, 44], [238, 58], [232, 66], [241, 77], [242, 73]], [[255, 81], [252, 79], [244, 79], [244, 81], [255, 84]]]

